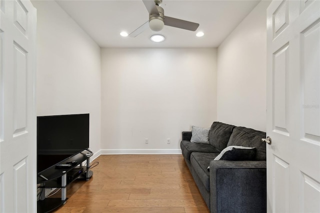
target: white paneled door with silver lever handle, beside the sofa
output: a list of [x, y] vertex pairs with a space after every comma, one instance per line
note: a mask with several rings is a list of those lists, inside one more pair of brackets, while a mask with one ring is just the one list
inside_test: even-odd
[[267, 211], [320, 212], [320, 1], [267, 8]]

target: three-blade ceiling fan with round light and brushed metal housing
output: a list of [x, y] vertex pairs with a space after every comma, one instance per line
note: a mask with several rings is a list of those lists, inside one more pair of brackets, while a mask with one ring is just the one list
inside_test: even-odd
[[136, 28], [133, 32], [129, 34], [130, 37], [136, 37], [138, 34], [143, 32], [146, 28], [150, 27], [153, 31], [160, 31], [164, 25], [173, 26], [181, 29], [187, 29], [195, 31], [199, 24], [181, 20], [178, 18], [173, 18], [169, 16], [164, 16], [164, 10], [160, 6], [162, 0], [142, 0], [146, 9], [149, 12], [149, 20], [143, 23], [141, 26]]

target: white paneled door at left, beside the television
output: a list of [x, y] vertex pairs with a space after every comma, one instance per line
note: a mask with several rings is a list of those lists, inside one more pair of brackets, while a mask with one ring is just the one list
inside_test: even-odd
[[36, 212], [36, 10], [0, 0], [0, 12], [0, 212]]

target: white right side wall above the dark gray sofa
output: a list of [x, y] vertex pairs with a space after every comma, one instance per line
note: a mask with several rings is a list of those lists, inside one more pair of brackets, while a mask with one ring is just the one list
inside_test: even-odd
[[262, 0], [217, 51], [217, 119], [265, 131], [266, 8]]

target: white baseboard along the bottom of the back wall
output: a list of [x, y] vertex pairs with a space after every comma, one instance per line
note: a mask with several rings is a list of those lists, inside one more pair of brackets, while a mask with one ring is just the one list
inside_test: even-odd
[[181, 149], [100, 149], [100, 154], [181, 154]]

